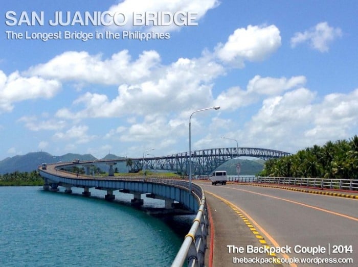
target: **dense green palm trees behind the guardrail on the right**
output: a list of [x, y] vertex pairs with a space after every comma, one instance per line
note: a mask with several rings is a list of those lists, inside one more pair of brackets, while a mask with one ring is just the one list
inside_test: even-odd
[[358, 179], [358, 136], [328, 141], [294, 155], [267, 160], [258, 174], [264, 177]]

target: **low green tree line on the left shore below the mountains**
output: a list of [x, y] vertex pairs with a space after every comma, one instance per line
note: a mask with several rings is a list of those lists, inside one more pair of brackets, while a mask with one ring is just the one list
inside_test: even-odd
[[43, 185], [43, 179], [37, 171], [14, 172], [0, 175], [0, 186], [30, 186]]

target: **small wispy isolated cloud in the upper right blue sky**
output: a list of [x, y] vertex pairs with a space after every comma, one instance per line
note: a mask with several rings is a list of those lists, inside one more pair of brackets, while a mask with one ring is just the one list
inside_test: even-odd
[[328, 52], [329, 43], [341, 36], [342, 30], [340, 28], [333, 28], [327, 22], [320, 22], [303, 33], [295, 33], [290, 42], [292, 47], [296, 47], [299, 43], [308, 42], [313, 49], [320, 52]]

